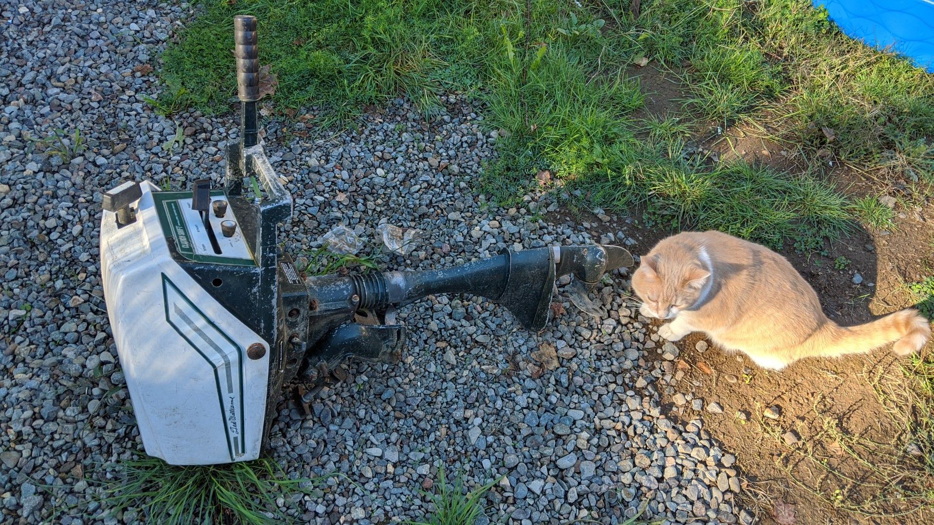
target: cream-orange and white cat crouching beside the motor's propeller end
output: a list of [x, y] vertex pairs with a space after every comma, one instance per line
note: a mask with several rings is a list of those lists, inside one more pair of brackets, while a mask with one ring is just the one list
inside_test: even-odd
[[806, 357], [864, 353], [894, 342], [908, 355], [924, 348], [930, 325], [913, 308], [842, 327], [821, 310], [814, 289], [784, 257], [720, 232], [663, 239], [632, 275], [646, 317], [672, 319], [669, 341], [703, 332], [721, 348], [741, 350], [781, 370]]

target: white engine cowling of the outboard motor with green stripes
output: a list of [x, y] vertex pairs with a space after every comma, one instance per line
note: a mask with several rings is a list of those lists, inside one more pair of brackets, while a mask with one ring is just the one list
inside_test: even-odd
[[[254, 264], [240, 229], [211, 252], [191, 210], [191, 192], [140, 184], [135, 220], [101, 222], [101, 274], [107, 315], [146, 453], [172, 464], [248, 461], [259, 457], [271, 341], [220, 305], [175, 262], [165, 231], [190, 257]], [[189, 198], [184, 198], [188, 195]], [[212, 199], [222, 199], [222, 194]], [[187, 207], [186, 207], [187, 206]], [[236, 219], [233, 210], [224, 220]], [[219, 219], [212, 217], [212, 223]], [[218, 230], [219, 231], [219, 225]], [[250, 346], [263, 346], [248, 359]], [[256, 347], [254, 347], [256, 348]]]

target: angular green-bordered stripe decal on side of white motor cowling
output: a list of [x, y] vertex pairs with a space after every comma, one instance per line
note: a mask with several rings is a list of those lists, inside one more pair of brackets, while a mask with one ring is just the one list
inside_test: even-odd
[[[210, 365], [218, 391], [220, 419], [227, 437], [227, 451], [231, 461], [236, 461], [247, 448], [247, 438], [242, 427], [243, 349], [234, 343], [227, 333], [220, 330], [214, 321], [208, 319], [168, 276], [162, 274], [162, 277], [165, 320]], [[235, 362], [231, 360], [231, 350], [236, 352]], [[233, 370], [234, 367], [236, 370]], [[233, 377], [234, 373], [237, 375], [236, 379]], [[237, 397], [240, 398], [239, 403]]]

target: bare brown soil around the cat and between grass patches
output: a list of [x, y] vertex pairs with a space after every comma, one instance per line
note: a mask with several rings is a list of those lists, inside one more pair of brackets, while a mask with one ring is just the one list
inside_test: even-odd
[[[677, 114], [677, 99], [684, 94], [679, 92], [676, 75], [651, 66], [633, 68], [630, 75], [639, 77], [644, 90], [651, 92], [637, 117]], [[714, 151], [721, 160], [740, 157], [798, 173], [806, 165], [794, 144], [762, 138], [772, 130], [757, 133], [754, 126], [747, 125], [721, 134], [709, 131], [698, 136], [699, 148]], [[898, 180], [868, 177], [831, 160], [819, 159], [823, 165], [818, 167], [840, 191], [856, 196], [887, 193], [905, 197], [904, 185]], [[907, 209], [904, 205], [905, 201], [918, 200], [899, 202], [892, 232], [859, 229], [838, 241], [826, 242], [821, 252], [782, 251], [817, 291], [830, 319], [854, 325], [913, 305], [905, 283], [930, 276], [934, 257], [934, 225], [928, 219], [934, 218], [934, 205], [924, 200]], [[622, 231], [636, 241], [628, 247], [634, 255], [647, 253], [658, 240], [674, 233], [644, 228], [639, 217], [640, 212], [631, 211], [628, 218], [612, 217], [604, 223], [587, 212], [559, 211], [547, 220], [583, 223], [595, 239]], [[673, 403], [672, 396], [678, 392], [702, 398], [705, 406], [712, 402], [722, 405], [722, 414], [704, 411], [703, 420], [712, 436], [736, 453], [745, 479], [743, 504], [756, 513], [759, 523], [777, 523], [772, 516], [776, 502], [794, 505], [795, 522], [804, 525], [934, 523], [934, 512], [929, 510], [873, 516], [910, 510], [911, 504], [904, 502], [858, 508], [879, 496], [883, 489], [875, 484], [881, 479], [888, 479], [892, 487], [910, 483], [904, 477], [892, 479], [894, 469], [922, 472], [918, 460], [906, 451], [898, 411], [893, 413], [892, 404], [884, 403], [889, 399], [885, 396], [898, 396], [905, 388], [904, 360], [880, 349], [865, 356], [803, 360], [776, 373], [758, 368], [743, 354], [725, 353], [713, 345], [701, 352], [696, 345], [703, 339], [702, 334], [693, 333], [676, 343], [681, 348], [678, 374], [683, 376], [665, 393], [667, 415], [684, 421], [697, 417], [690, 403]], [[929, 345], [925, 351], [930, 349]], [[764, 416], [773, 406], [779, 412], [777, 419]], [[792, 434], [787, 434], [789, 431]], [[858, 447], [870, 442], [882, 445]], [[884, 447], [888, 444], [893, 447]], [[811, 454], [816, 462], [802, 453]], [[924, 481], [927, 487], [923, 490], [934, 490], [929, 477]]]

